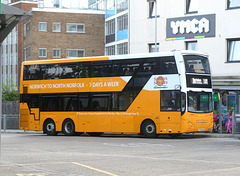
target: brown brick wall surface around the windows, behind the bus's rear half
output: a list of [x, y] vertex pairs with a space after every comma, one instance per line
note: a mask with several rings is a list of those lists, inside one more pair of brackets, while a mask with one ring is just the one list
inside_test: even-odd
[[[38, 23], [47, 23], [47, 32], [38, 31]], [[61, 23], [61, 32], [52, 32], [53, 22]], [[67, 23], [81, 23], [85, 25], [85, 33], [67, 33]], [[104, 55], [105, 15], [33, 12], [31, 30], [24, 39], [24, 47], [31, 45], [32, 54], [27, 60], [42, 59], [38, 57], [39, 48], [47, 48], [47, 59], [52, 59], [52, 49], [60, 48], [61, 57], [66, 57], [67, 49], [84, 49], [85, 56]]]

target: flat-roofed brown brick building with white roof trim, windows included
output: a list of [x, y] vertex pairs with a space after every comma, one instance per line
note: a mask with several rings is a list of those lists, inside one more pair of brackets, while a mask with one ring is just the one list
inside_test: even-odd
[[24, 21], [24, 60], [104, 55], [105, 12], [32, 8]]

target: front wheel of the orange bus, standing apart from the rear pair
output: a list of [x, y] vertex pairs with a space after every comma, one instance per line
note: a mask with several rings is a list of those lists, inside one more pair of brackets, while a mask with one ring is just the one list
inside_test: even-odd
[[141, 127], [141, 133], [148, 138], [156, 137], [156, 125], [153, 121], [147, 120], [143, 122]]

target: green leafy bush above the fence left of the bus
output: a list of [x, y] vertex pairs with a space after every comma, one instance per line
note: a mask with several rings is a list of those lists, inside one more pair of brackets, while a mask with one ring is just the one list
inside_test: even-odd
[[16, 101], [19, 100], [19, 92], [15, 90], [12, 80], [7, 80], [7, 84], [2, 84], [2, 100]]

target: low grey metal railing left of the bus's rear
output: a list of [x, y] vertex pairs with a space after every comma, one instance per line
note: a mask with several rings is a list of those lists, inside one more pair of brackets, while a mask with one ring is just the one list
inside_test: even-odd
[[3, 114], [2, 129], [19, 129], [19, 115], [18, 114]]

